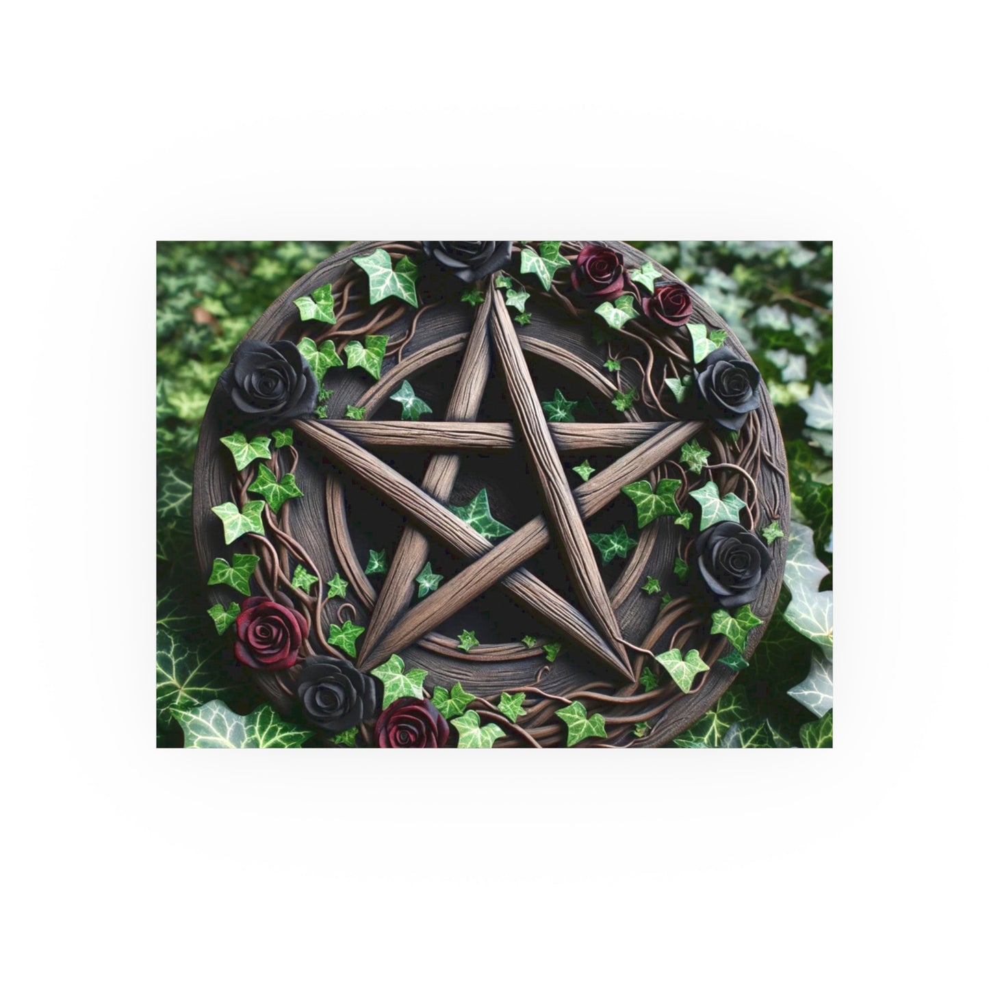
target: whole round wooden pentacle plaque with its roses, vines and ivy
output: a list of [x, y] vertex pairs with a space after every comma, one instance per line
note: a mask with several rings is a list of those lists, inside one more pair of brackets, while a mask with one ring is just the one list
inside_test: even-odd
[[206, 412], [218, 628], [332, 747], [654, 747], [772, 613], [782, 441], [722, 319], [614, 241], [357, 243]]

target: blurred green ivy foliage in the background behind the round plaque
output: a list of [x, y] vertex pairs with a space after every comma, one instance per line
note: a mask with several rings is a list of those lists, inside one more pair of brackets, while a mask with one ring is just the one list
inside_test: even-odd
[[[222, 664], [206, 615], [192, 543], [192, 466], [199, 426], [237, 342], [301, 275], [346, 241], [164, 241], [157, 251], [158, 627]], [[799, 405], [832, 381], [832, 245], [806, 241], [633, 241], [671, 268], [732, 327], [762, 372], [786, 444], [793, 517], [814, 530], [832, 567], [832, 439]], [[825, 579], [822, 589], [831, 586]], [[786, 590], [752, 665], [740, 674], [750, 718], [799, 745], [814, 715], [787, 689], [807, 674], [814, 647], [782, 620]], [[235, 668], [227, 701], [246, 713], [264, 698]], [[772, 734], [772, 733], [764, 733]], [[775, 737], [775, 736], [774, 736]], [[181, 745], [172, 722], [159, 745]]]

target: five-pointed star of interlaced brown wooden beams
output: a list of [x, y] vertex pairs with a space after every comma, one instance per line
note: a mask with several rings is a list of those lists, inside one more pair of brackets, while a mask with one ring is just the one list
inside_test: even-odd
[[[535, 341], [526, 340], [534, 349]], [[504, 371], [514, 422], [478, 423], [491, 374], [493, 350]], [[401, 372], [401, 373], [400, 373]], [[394, 383], [404, 369], [393, 369]], [[389, 375], [379, 385], [390, 387]], [[394, 390], [394, 388], [393, 388]], [[523, 343], [489, 278], [477, 308], [445, 420], [293, 421], [322, 453], [404, 512], [406, 525], [362, 638], [358, 666], [371, 669], [432, 631], [493, 584], [584, 649], [612, 674], [633, 679], [621, 630], [608, 599], [584, 520], [604, 508], [623, 485], [641, 479], [703, 426], [701, 422], [547, 422], [523, 354]], [[533, 518], [495, 545], [445, 504], [453, 492], [458, 452], [506, 449], [521, 442], [543, 494], [545, 515]], [[418, 486], [375, 456], [372, 447], [421, 446], [434, 453]], [[611, 466], [572, 490], [560, 450], [631, 448]], [[524, 569], [548, 546], [557, 546], [581, 609]], [[428, 538], [471, 563], [409, 607], [415, 578], [427, 563]]]

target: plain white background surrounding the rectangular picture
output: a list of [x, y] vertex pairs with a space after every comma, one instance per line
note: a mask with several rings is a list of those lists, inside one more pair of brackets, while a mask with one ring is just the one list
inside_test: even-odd
[[[977, 980], [984, 31], [683, 6], [5, 15], [10, 984]], [[834, 751], [155, 751], [154, 241], [404, 235], [834, 239]]]

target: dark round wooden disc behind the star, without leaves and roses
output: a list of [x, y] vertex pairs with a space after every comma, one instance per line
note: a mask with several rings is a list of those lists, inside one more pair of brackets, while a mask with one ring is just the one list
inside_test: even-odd
[[[580, 247], [584, 243], [586, 242], [569, 241], [564, 249]], [[648, 261], [644, 254], [627, 244], [618, 241], [602, 243], [624, 256], [626, 268], [641, 266]], [[361, 293], [366, 294], [367, 279], [362, 271], [351, 264], [351, 259], [356, 255], [366, 255], [378, 247], [388, 247], [395, 251], [399, 246], [384, 241], [365, 241], [352, 244], [323, 261], [273, 303], [250, 329], [245, 339], [263, 342], [288, 339], [298, 342], [304, 336], [318, 337], [330, 330], [339, 330], [341, 333], [360, 330], [352, 338], [363, 339], [363, 327], [368, 326], [384, 310], [388, 309], [390, 312], [389, 304], [395, 303], [395, 300], [370, 307], [365, 315], [347, 325], [340, 318], [335, 327], [317, 321], [302, 321], [293, 300], [311, 295], [316, 288], [327, 283], [338, 286], [341, 280], [345, 281], [354, 274], [359, 277], [354, 279], [351, 298], [360, 299]], [[420, 251], [418, 244], [410, 241], [405, 241], [406, 252], [407, 248]], [[672, 272], [661, 266], [656, 267], [665, 277], [675, 280]], [[516, 261], [512, 262], [512, 272], [517, 274]], [[532, 279], [525, 279], [526, 283], [531, 281]], [[422, 284], [420, 281], [420, 285]], [[401, 411], [398, 403], [389, 401], [389, 396], [398, 390], [403, 381], [408, 381], [415, 394], [433, 410], [431, 414], [422, 417], [421, 423], [434, 423], [433, 428], [439, 429], [439, 423], [445, 419], [446, 405], [460, 370], [461, 358], [476, 315], [470, 305], [460, 300], [460, 293], [467, 288], [469, 286], [454, 283], [442, 300], [420, 299], [419, 310], [413, 310], [407, 305], [401, 307], [401, 312], [396, 308], [398, 318], [381, 329], [392, 341], [401, 340], [412, 325], [412, 320], [417, 321], [414, 334], [405, 344], [401, 363], [397, 362], [395, 355], [386, 357], [380, 381], [375, 382], [361, 370], [330, 369], [324, 381], [324, 387], [332, 393], [327, 400], [327, 419], [342, 420], [347, 405], [364, 405], [367, 420], [381, 422], [382, 429], [387, 431], [387, 424], [397, 420]], [[550, 298], [548, 294], [540, 293], [537, 287], [527, 284], [527, 291], [530, 299], [526, 304], [526, 312], [531, 314], [531, 323], [516, 328], [525, 354], [525, 363], [541, 400], [551, 399], [554, 390], [561, 389], [569, 400], [578, 400], [581, 403], [578, 406], [578, 418], [582, 422], [675, 421], [675, 405], [668, 405], [667, 401], [663, 404], [672, 413], [670, 415], [648, 408], [641, 401], [625, 412], [618, 411], [611, 403], [615, 394], [615, 376], [603, 368], [608, 356], [606, 347], [594, 343], [590, 333], [595, 321], [603, 325], [600, 317], [590, 310], [574, 315], [565, 304]], [[691, 292], [690, 295], [693, 299], [691, 321], [704, 322], [711, 329], [726, 331], [725, 345], [740, 356], [747, 356], [737, 337], [720, 316], [696, 294]], [[361, 300], [362, 308], [366, 307], [366, 302], [366, 298]], [[350, 309], [345, 312], [350, 312]], [[381, 323], [369, 327], [367, 332], [377, 332], [380, 325]], [[337, 339], [334, 337], [334, 342]], [[623, 355], [636, 357], [642, 364], [645, 363], [644, 346], [637, 345], [631, 339], [619, 338], [619, 341]], [[494, 354], [494, 347], [492, 350], [491, 374], [477, 419], [479, 422], [515, 423], [515, 413], [504, 375]], [[662, 369], [657, 369], [653, 376], [657, 386], [665, 377], [661, 371]], [[641, 396], [642, 380], [642, 374], [634, 362], [623, 363], [623, 388], [634, 385], [638, 390], [637, 394]], [[753, 478], [758, 486], [759, 497], [753, 510], [764, 520], [762, 525], [768, 524], [769, 519], [777, 518], [786, 531], [789, 527], [789, 494], [782, 439], [764, 385], [760, 386], [760, 395], [761, 405], [750, 414], [750, 422], [746, 426], [754, 430], [751, 435], [758, 437], [755, 442], [760, 448], [759, 471]], [[245, 484], [242, 479], [238, 482], [232, 458], [220, 443], [220, 437], [227, 435], [232, 428], [235, 426], [231, 426], [225, 419], [224, 404], [215, 394], [207, 408], [200, 435], [193, 494], [194, 532], [204, 580], [211, 573], [216, 557], [229, 559], [231, 552], [263, 555], [263, 551], [259, 551], [255, 545], [256, 540], [250, 536], [241, 537], [232, 547], [227, 547], [223, 525], [211, 511], [214, 505], [235, 500], [237, 489]], [[545, 502], [544, 494], [536, 483], [525, 445], [517, 438], [517, 423], [514, 425], [514, 435], [516, 439], [510, 446], [474, 449], [460, 454], [456, 483], [448, 503], [463, 505], [481, 489], [485, 489], [494, 518], [517, 530], [543, 512]], [[743, 445], [747, 435], [750, 434], [743, 430]], [[705, 425], [696, 438], [712, 451], [731, 456], [725, 445], [715, 445], [714, 434], [709, 426]], [[369, 551], [384, 548], [389, 560], [392, 559], [407, 524], [405, 513], [383, 498], [373, 486], [327, 460], [325, 452], [300, 436], [298, 429], [295, 448], [298, 450], [298, 463], [294, 474], [305, 495], [289, 502], [291, 522], [287, 527], [291, 529], [292, 538], [305, 549], [316, 573], [322, 578], [320, 586], [323, 589], [325, 581], [335, 573], [339, 573], [348, 582], [346, 606], [342, 611], [338, 613], [340, 605], [344, 603], [339, 599], [323, 603], [318, 618], [321, 628], [325, 634], [330, 624], [339, 624], [346, 619], [367, 626], [382, 585], [381, 577], [368, 577], [364, 573]], [[370, 442], [368, 448], [415, 486], [422, 482], [423, 472], [436, 453], [428, 447], [376, 446]], [[559, 455], [573, 489], [582, 483], [574, 474], [573, 466], [586, 458], [595, 470], [600, 471], [628, 450], [629, 447], [559, 449]], [[715, 456], [720, 453], [712, 455], [712, 464], [715, 463]], [[675, 461], [677, 453], [670, 456]], [[247, 468], [248, 474], [254, 466], [256, 464]], [[661, 476], [660, 470], [662, 468], [644, 469], [636, 477], [645, 477], [655, 483]], [[677, 467], [672, 473], [668, 470], [668, 476], [684, 475]], [[695, 475], [685, 477], [689, 486], [698, 482]], [[699, 481], [707, 480], [708, 477], [709, 475], [705, 475]], [[719, 473], [718, 478], [723, 494], [725, 491], [735, 490], [742, 482], [737, 472], [732, 471]], [[280, 514], [280, 517], [286, 516]], [[665, 622], [669, 627], [663, 629], [655, 642], [649, 643], [649, 649], [653, 653], [660, 653], [674, 645], [684, 652], [688, 648], [699, 648], [711, 670], [702, 678], [698, 677], [695, 684], [700, 685], [695, 685], [693, 692], [683, 694], [670, 684], [669, 695], [664, 694], [652, 701], [636, 702], [635, 695], [642, 692], [641, 687], [602, 668], [593, 656], [569, 642], [564, 643], [565, 648], [559, 659], [547, 666], [542, 646], [548, 641], [562, 640], [559, 631], [546, 621], [534, 617], [499, 584], [480, 594], [461, 611], [440, 621], [428, 635], [402, 649], [405, 668], [427, 671], [427, 689], [432, 690], [437, 686], [449, 688], [455, 681], [459, 681], [469, 692], [478, 697], [487, 697], [494, 704], [501, 691], [510, 693], [532, 685], [537, 680], [540, 691], [557, 697], [569, 698], [583, 691], [589, 694], [582, 700], [588, 713], [596, 711], [603, 714], [612, 735], [610, 742], [633, 742], [631, 730], [637, 721], [643, 719], [649, 721], [653, 730], [648, 738], [635, 739], [635, 745], [655, 746], [669, 742], [717, 700], [736, 674], [724, 664], [714, 662], [730, 648], [721, 637], [712, 640], [709, 635], [710, 614], [717, 605], [712, 605], [709, 600], [705, 602], [698, 599], [685, 607], [678, 600], [681, 587], [674, 576], [674, 559], [677, 547], [684, 541], [689, 541], [691, 535], [681, 527], [675, 527], [674, 519], [670, 516], [662, 517], [642, 530], [637, 529], [635, 522], [635, 510], [631, 501], [622, 494], [616, 494], [603, 510], [585, 520], [585, 527], [588, 532], [609, 532], [623, 523], [628, 532], [638, 539], [627, 559], [616, 558], [600, 568], [620, 624], [621, 635], [626, 641], [640, 645], [648, 640], [651, 630], [655, 633], [658, 627], [664, 625], [664, 612], [660, 608], [661, 595], [648, 595], [640, 589], [647, 575], [659, 578], [663, 589], [674, 594], [674, 603], [668, 605], [670, 610], [666, 612], [668, 617], [673, 617]], [[696, 531], [696, 523], [692, 531]], [[779, 594], [785, 547], [785, 538], [775, 540], [769, 547], [771, 567], [765, 575], [758, 599], [751, 605], [753, 611], [764, 619], [764, 624], [750, 634], [747, 657], [755, 649]], [[430, 540], [429, 560], [433, 571], [444, 575], [445, 579], [452, 578], [466, 565], [466, 561], [435, 540]], [[292, 568], [299, 562], [299, 558], [288, 552], [283, 562], [286, 567]], [[567, 600], [577, 600], [565, 566], [564, 554], [555, 535], [552, 536], [550, 545], [526, 561], [524, 566], [535, 578], [552, 587]], [[211, 586], [209, 589], [212, 601], [224, 606], [230, 601], [239, 601], [242, 597], [225, 585]], [[415, 603], [414, 598], [412, 603]], [[469, 654], [457, 648], [455, 636], [464, 629], [474, 631], [481, 642]], [[537, 645], [529, 647], [522, 643], [521, 639], [525, 635], [536, 636]], [[315, 652], [324, 651], [319, 648], [312, 628], [310, 641]], [[635, 657], [636, 654], [630, 651], [629, 659], [633, 660]], [[286, 717], [291, 717], [295, 702], [292, 689], [294, 670], [283, 674], [254, 675], [273, 704]], [[664, 676], [661, 672], [661, 678]], [[529, 696], [540, 699], [538, 693], [530, 693]], [[555, 709], [559, 706], [559, 703], [547, 703], [546, 710], [539, 712], [527, 725], [529, 733], [539, 739], [541, 744], [564, 744], [564, 726], [554, 716]], [[662, 710], [656, 713], [655, 709], [658, 707], [662, 707]], [[619, 734], [615, 734], [616, 732]], [[518, 744], [519, 741], [520, 738], [509, 728], [505, 739], [499, 744]], [[591, 740], [590, 743], [583, 744], [603, 741]]]

